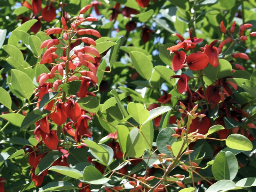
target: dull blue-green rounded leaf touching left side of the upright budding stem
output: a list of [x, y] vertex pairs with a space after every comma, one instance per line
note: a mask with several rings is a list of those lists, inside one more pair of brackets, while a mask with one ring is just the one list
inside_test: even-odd
[[160, 153], [172, 156], [172, 153], [167, 149], [166, 145], [172, 146], [177, 141], [177, 138], [172, 137], [172, 134], [176, 133], [171, 127], [162, 129], [156, 139], [156, 147]]

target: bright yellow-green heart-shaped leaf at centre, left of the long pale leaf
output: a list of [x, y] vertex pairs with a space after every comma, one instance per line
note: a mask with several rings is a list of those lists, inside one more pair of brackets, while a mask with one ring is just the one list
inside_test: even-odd
[[130, 102], [127, 105], [127, 111], [132, 116], [132, 118], [139, 124], [144, 123], [149, 116], [149, 112], [144, 108], [144, 105], [140, 103]]

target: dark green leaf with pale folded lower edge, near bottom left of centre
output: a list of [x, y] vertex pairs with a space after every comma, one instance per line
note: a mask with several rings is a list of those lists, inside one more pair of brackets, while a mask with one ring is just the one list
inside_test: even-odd
[[101, 172], [93, 166], [87, 166], [84, 168], [84, 180], [87, 183], [94, 185], [102, 185], [108, 182], [110, 179], [104, 177]]

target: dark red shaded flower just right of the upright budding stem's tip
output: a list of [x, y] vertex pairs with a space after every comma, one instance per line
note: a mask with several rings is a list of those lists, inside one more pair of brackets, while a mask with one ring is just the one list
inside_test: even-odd
[[198, 133], [206, 134], [211, 126], [212, 123], [207, 116], [205, 116], [204, 118], [196, 117], [189, 127], [189, 133], [195, 132], [198, 129]]

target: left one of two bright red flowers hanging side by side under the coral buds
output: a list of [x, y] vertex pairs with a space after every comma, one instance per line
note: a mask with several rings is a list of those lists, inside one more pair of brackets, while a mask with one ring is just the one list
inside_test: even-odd
[[54, 111], [51, 113], [52, 121], [57, 125], [62, 125], [66, 122], [68, 115], [63, 102], [58, 102]]

